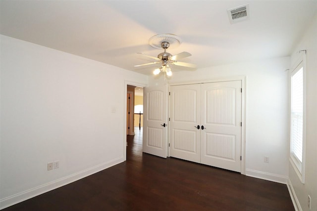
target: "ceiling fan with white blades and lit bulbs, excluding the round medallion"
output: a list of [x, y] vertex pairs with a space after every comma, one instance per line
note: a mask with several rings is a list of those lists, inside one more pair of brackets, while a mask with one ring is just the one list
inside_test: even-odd
[[162, 64], [161, 68], [155, 69], [153, 74], [158, 75], [160, 72], [165, 72], [167, 76], [172, 75], [172, 71], [169, 67], [170, 64], [172, 65], [178, 65], [178, 66], [183, 66], [183, 67], [190, 67], [190, 68], [196, 68], [195, 64], [187, 63], [187, 62], [179, 62], [177, 61], [178, 59], [182, 59], [188, 56], [191, 56], [192, 54], [188, 52], [181, 52], [176, 55], [172, 55], [168, 52], [166, 52], [166, 49], [169, 47], [169, 42], [163, 41], [160, 43], [160, 46], [164, 49], [164, 52], [160, 53], [158, 57], [150, 56], [144, 53], [139, 53], [143, 56], [155, 59], [156, 62], [151, 62], [151, 63], [146, 63], [146, 64], [140, 64], [140, 65], [134, 65], [134, 67], [141, 67], [145, 65], [152, 65], [152, 64]]

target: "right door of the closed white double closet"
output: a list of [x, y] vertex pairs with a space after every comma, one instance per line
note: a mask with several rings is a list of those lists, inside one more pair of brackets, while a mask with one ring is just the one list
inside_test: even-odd
[[241, 172], [241, 97], [241, 81], [202, 84], [202, 164]]

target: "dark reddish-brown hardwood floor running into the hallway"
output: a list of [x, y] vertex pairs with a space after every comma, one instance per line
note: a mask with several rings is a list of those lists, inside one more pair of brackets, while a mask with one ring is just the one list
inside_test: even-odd
[[135, 132], [126, 162], [4, 211], [294, 211], [286, 185], [142, 153]]

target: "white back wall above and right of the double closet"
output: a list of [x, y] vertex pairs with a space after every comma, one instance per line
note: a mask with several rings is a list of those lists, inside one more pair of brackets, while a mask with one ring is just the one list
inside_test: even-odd
[[[149, 84], [199, 82], [246, 76], [246, 174], [287, 182], [289, 57], [175, 72]], [[269, 163], [264, 163], [264, 156]]]

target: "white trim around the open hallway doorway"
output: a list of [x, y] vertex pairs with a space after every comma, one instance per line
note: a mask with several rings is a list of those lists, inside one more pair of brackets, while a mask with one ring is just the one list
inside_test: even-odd
[[146, 87], [148, 84], [140, 84], [138, 82], [124, 80], [124, 110], [123, 110], [123, 160], [127, 160], [127, 93], [128, 93], [128, 85]]

